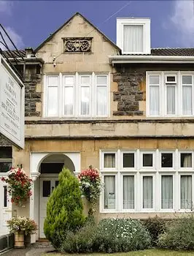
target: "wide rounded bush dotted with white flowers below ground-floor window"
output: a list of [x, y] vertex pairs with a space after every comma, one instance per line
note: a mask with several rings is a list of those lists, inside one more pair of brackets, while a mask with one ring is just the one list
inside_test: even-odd
[[139, 220], [102, 219], [96, 230], [96, 252], [130, 252], [151, 246], [150, 233]]

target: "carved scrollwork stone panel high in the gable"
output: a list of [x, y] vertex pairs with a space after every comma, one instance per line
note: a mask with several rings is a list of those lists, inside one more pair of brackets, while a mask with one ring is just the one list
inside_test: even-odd
[[65, 53], [88, 53], [91, 51], [91, 37], [63, 38]]

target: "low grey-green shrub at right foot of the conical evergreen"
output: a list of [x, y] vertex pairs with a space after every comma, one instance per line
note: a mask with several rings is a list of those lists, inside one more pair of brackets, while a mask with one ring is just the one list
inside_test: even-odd
[[76, 233], [69, 231], [66, 240], [61, 244], [61, 252], [83, 253], [93, 252], [93, 244], [96, 238], [96, 225], [90, 219]]

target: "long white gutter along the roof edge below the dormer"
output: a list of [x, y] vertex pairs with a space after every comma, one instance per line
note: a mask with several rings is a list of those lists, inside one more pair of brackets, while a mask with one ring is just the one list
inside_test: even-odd
[[108, 56], [109, 63], [128, 64], [128, 63], [194, 63], [194, 56], [151, 56], [151, 55], [123, 55]]

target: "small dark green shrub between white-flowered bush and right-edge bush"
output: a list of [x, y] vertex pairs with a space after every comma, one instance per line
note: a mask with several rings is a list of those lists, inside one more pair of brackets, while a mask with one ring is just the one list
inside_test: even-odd
[[158, 236], [161, 233], [164, 233], [166, 230], [166, 222], [160, 217], [156, 216], [146, 219], [143, 223], [147, 230], [150, 232], [150, 236], [152, 238], [152, 246], [156, 246], [158, 244]]

